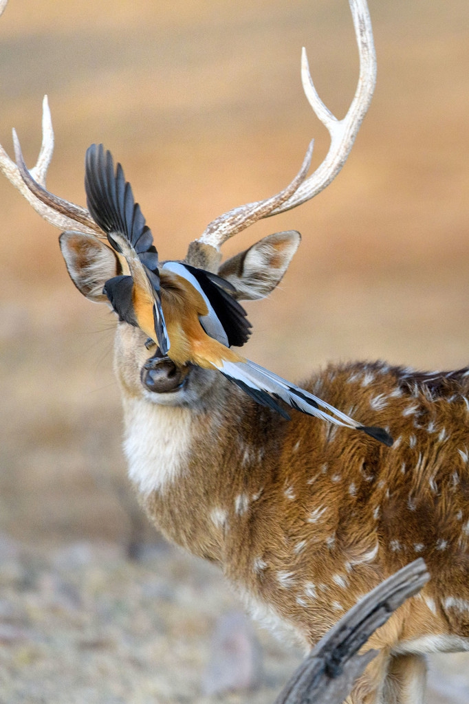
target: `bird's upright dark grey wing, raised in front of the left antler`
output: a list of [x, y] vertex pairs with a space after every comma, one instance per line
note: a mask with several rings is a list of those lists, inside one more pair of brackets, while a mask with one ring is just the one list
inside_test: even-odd
[[[162, 353], [166, 354], [170, 348], [170, 340], [161, 308], [158, 252], [153, 244], [153, 235], [145, 225], [139, 204], [135, 203], [132, 188], [125, 180], [122, 166], [118, 163], [114, 171], [111, 152], [105, 151], [102, 144], [92, 144], [87, 149], [85, 191], [92, 218], [101, 230], [106, 232], [113, 249], [125, 256], [134, 285], [143, 287], [154, 301], [156, 342]], [[113, 288], [114, 302], [111, 301], [111, 304], [114, 308], [118, 294], [124, 290], [128, 294], [127, 289]]]

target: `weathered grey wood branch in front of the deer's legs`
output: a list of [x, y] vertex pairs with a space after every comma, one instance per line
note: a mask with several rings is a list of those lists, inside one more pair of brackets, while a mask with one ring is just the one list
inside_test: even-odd
[[358, 650], [428, 579], [425, 562], [419, 558], [370, 591], [311, 650], [275, 704], [342, 704], [377, 655], [377, 650]]

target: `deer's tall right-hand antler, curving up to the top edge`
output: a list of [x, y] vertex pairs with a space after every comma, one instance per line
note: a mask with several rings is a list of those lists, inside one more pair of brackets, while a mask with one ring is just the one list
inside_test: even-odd
[[301, 80], [306, 99], [330, 134], [330, 148], [323, 163], [305, 180], [304, 170], [308, 169], [313, 151], [313, 142], [311, 142], [299, 174], [286, 189], [264, 201], [246, 203], [244, 206], [238, 206], [219, 215], [218, 218], [212, 220], [206, 227], [204, 234], [197, 240], [201, 244], [208, 244], [219, 249], [220, 245], [232, 235], [244, 230], [257, 220], [284, 213], [285, 210], [295, 208], [310, 200], [325, 189], [342, 169], [354, 144], [361, 122], [370, 106], [376, 81], [375, 46], [366, 0], [349, 0], [349, 4], [360, 56], [360, 75], [354, 99], [342, 120], [337, 120], [318, 96], [309, 71], [305, 49], [301, 55]]

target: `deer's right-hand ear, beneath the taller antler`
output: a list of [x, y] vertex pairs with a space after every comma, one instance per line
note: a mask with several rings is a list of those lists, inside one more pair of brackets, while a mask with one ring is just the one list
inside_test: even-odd
[[301, 235], [296, 230], [268, 234], [227, 259], [218, 274], [233, 284], [235, 298], [244, 301], [264, 298], [282, 280], [300, 241]]

